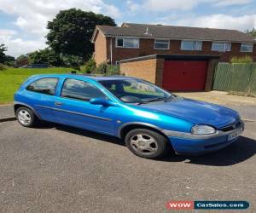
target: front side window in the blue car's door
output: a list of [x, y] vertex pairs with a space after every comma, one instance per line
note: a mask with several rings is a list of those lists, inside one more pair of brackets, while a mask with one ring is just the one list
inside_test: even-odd
[[93, 84], [76, 79], [67, 79], [64, 82], [61, 96], [83, 101], [90, 101], [92, 98], [107, 98], [107, 96]]

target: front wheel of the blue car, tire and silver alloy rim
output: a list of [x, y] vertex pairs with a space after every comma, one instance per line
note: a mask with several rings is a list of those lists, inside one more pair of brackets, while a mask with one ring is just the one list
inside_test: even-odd
[[135, 129], [125, 135], [125, 145], [142, 158], [163, 158], [168, 153], [168, 139], [154, 130]]

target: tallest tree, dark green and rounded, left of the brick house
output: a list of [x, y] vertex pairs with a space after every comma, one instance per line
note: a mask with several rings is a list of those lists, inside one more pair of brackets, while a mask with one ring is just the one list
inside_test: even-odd
[[103, 14], [81, 9], [62, 10], [48, 22], [47, 43], [55, 53], [76, 55], [88, 60], [93, 52], [90, 38], [96, 25], [116, 26], [114, 20]]

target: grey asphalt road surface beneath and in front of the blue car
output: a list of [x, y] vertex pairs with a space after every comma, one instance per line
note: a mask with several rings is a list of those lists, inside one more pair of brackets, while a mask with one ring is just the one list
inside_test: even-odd
[[247, 200], [256, 212], [255, 130], [247, 122], [217, 153], [156, 161], [105, 135], [0, 123], [0, 211], [167, 212], [169, 200]]

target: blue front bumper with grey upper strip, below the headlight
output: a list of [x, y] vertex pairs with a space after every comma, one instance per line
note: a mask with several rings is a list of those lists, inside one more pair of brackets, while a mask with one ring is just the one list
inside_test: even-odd
[[[244, 124], [241, 122], [241, 127], [236, 130], [241, 130], [242, 132]], [[229, 135], [236, 130], [227, 132], [218, 130], [216, 134], [212, 135], [192, 135], [190, 133], [169, 130], [164, 130], [164, 133], [168, 136], [169, 141], [171, 141], [175, 153], [199, 155], [217, 151], [235, 142], [239, 136], [229, 140]]]

